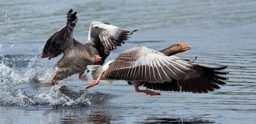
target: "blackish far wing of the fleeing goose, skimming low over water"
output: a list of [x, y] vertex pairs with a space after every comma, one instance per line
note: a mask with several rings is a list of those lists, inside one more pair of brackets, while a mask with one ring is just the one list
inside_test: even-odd
[[194, 65], [192, 69], [200, 74], [199, 77], [192, 76], [187, 79], [181, 78], [164, 83], [141, 81], [140, 85], [160, 91], [189, 91], [194, 93], [214, 91], [214, 89], [220, 88], [218, 84], [226, 84], [224, 81], [228, 78], [223, 77], [223, 75], [227, 75], [227, 72], [222, 71], [226, 67], [213, 68]]

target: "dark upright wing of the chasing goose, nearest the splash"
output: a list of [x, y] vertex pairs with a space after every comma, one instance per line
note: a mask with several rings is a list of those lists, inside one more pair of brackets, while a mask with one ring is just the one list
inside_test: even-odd
[[67, 12], [67, 24], [47, 40], [43, 47], [42, 58], [48, 57], [50, 60], [52, 57], [60, 55], [68, 47], [74, 46], [73, 30], [78, 18], [77, 12], [71, 12], [72, 9]]

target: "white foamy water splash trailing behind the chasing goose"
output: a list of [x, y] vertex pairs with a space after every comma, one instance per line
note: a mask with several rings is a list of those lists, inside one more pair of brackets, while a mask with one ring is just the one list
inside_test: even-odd
[[[42, 66], [38, 57], [26, 57], [29, 60], [27, 66], [8, 66], [8, 59], [2, 57], [0, 63], [0, 105], [4, 106], [29, 106], [29, 105], [57, 105], [57, 106], [88, 106], [91, 105], [92, 95], [103, 98], [99, 101], [107, 101], [107, 95], [71, 91], [64, 85], [67, 80], [51, 86], [42, 84], [54, 73], [52, 68]], [[16, 60], [15, 60], [16, 61]], [[97, 97], [93, 97], [97, 98]], [[106, 98], [106, 99], [104, 99]], [[95, 101], [95, 100], [93, 100]]]

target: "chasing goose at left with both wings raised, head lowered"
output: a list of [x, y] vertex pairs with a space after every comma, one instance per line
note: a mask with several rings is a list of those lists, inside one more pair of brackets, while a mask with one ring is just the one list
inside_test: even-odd
[[[50, 36], [43, 48], [42, 58], [50, 60], [64, 53], [57, 62], [56, 73], [50, 83], [79, 74], [79, 79], [86, 81], [84, 74], [90, 64], [104, 64], [111, 50], [121, 46], [132, 33], [126, 29], [112, 26], [104, 22], [92, 22], [88, 32], [88, 41], [83, 44], [74, 40], [74, 26], [78, 22], [77, 12], [67, 12], [67, 24]], [[83, 75], [84, 74], [84, 75]]]

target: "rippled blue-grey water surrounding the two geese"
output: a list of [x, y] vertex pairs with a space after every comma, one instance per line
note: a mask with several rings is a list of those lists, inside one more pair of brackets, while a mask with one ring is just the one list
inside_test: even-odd
[[[254, 123], [256, 116], [256, 2], [246, 1], [2, 1], [0, 10], [0, 123]], [[54, 73], [40, 53], [49, 36], [78, 11], [74, 37], [85, 42], [92, 21], [138, 29], [114, 50], [143, 45], [161, 50], [182, 42], [178, 57], [228, 65], [227, 84], [207, 94], [136, 93], [124, 81], [87, 82], [73, 75], [50, 87]]]

